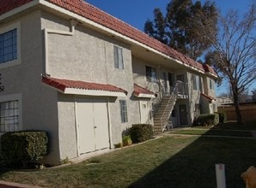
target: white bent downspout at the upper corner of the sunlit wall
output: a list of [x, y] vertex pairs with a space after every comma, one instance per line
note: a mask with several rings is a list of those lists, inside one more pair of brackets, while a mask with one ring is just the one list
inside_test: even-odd
[[48, 34], [59, 34], [64, 36], [74, 36], [75, 34], [75, 26], [78, 23], [76, 20], [70, 20], [70, 32], [54, 30], [54, 29], [44, 29], [44, 36], [45, 36], [45, 66], [43, 70], [44, 75], [48, 74]]

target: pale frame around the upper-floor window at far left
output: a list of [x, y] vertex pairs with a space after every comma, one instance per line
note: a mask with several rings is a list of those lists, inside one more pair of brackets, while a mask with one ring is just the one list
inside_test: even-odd
[[0, 34], [9, 32], [14, 29], [16, 29], [17, 31], [17, 58], [8, 62], [0, 63], [0, 69], [9, 68], [9, 67], [21, 64], [21, 22], [17, 21], [8, 26], [3, 26], [3, 28], [0, 28]]

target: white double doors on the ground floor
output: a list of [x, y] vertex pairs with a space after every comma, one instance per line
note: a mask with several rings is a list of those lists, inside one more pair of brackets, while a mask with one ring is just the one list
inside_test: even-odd
[[80, 155], [109, 148], [107, 99], [77, 97], [76, 117]]

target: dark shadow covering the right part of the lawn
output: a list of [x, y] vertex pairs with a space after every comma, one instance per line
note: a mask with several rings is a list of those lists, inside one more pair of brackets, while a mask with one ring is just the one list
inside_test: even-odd
[[254, 139], [198, 137], [129, 187], [216, 187], [216, 163], [225, 164], [227, 187], [245, 187], [241, 173], [256, 165], [255, 150]]

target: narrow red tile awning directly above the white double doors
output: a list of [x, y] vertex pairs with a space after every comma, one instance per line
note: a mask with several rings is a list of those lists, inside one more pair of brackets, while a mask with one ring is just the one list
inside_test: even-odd
[[82, 89], [82, 90], [95, 90], [95, 91], [113, 91], [113, 92], [123, 92], [127, 94], [127, 91], [113, 86], [98, 83], [89, 83], [79, 80], [70, 79], [56, 79], [52, 77], [42, 77], [42, 82], [46, 85], [51, 85], [60, 91], [65, 91], [66, 88]]

